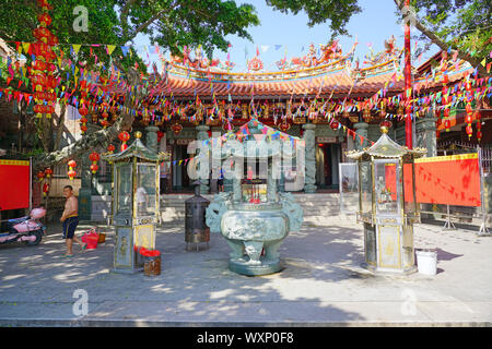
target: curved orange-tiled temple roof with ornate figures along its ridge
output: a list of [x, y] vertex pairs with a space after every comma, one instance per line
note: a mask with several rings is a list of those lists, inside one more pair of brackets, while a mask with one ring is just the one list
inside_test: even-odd
[[[402, 50], [395, 46], [395, 38], [385, 41], [386, 50], [366, 56], [363, 68], [354, 61], [353, 45], [349, 53], [342, 55], [338, 43], [321, 46], [320, 56], [316, 56], [312, 45], [309, 53], [303, 58], [285, 59], [277, 62], [279, 71], [265, 72], [259, 57], [248, 64], [247, 73], [232, 72], [231, 62], [209, 61], [191, 58], [185, 50], [183, 58], [171, 57], [164, 60], [165, 79], [153, 86], [153, 95], [173, 96], [174, 99], [231, 98], [302, 98], [319, 96], [321, 98], [367, 97], [386, 88], [386, 94], [397, 94], [405, 89], [403, 72], [400, 65]], [[425, 63], [424, 63], [425, 64]], [[453, 83], [469, 72], [464, 61], [447, 64], [448, 82]], [[472, 69], [471, 69], [472, 70]], [[415, 72], [419, 70], [415, 69]], [[442, 72], [438, 68], [433, 74], [415, 76], [415, 84], [424, 88], [442, 86]]]

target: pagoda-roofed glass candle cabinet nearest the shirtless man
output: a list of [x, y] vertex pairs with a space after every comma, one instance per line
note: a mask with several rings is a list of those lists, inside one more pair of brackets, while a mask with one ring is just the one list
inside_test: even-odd
[[155, 228], [160, 221], [159, 163], [168, 159], [155, 154], [140, 141], [118, 154], [105, 154], [103, 159], [114, 164], [113, 225], [115, 226], [115, 273], [143, 270], [138, 248], [155, 249]]

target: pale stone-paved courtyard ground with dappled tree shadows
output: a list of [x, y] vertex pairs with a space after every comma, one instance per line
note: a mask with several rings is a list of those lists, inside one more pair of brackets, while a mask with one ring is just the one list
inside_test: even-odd
[[[86, 226], [79, 226], [80, 236]], [[103, 227], [104, 228], [104, 227]], [[0, 246], [1, 326], [490, 326], [492, 238], [415, 226], [417, 249], [437, 248], [438, 274], [375, 276], [362, 227], [348, 217], [305, 224], [280, 249], [284, 270], [247, 277], [227, 269], [229, 246], [185, 251], [183, 226], [161, 227], [162, 274], [110, 273], [114, 233], [63, 258], [59, 225], [38, 246]], [[89, 313], [77, 316], [75, 290]], [[77, 304], [75, 304], [77, 306]]]

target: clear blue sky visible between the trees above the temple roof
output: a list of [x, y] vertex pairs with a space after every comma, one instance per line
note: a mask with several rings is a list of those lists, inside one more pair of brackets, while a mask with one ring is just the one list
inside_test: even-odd
[[[259, 26], [248, 29], [254, 43], [236, 36], [227, 36], [227, 39], [232, 44], [230, 49], [231, 61], [236, 63], [234, 71], [242, 72], [246, 70], [247, 59], [256, 56], [257, 47], [260, 52], [260, 58], [265, 62], [265, 70], [274, 71], [277, 70], [274, 63], [284, 57], [285, 50], [289, 59], [292, 57], [302, 57], [307, 53], [311, 43], [319, 47], [319, 44], [327, 44], [330, 38], [329, 23], [308, 27], [308, 19], [304, 12], [297, 15], [283, 14], [268, 7], [265, 0], [244, 0], [236, 2], [247, 2], [255, 5], [261, 23]], [[360, 57], [361, 64], [364, 56], [370, 52], [368, 45], [372, 46], [375, 52], [379, 52], [384, 49], [384, 40], [388, 39], [391, 35], [395, 35], [397, 38], [397, 45], [402, 47], [403, 31], [397, 23], [395, 2], [393, 0], [360, 0], [360, 4], [363, 11], [354, 15], [348, 25], [348, 31], [352, 37], [344, 36], [339, 38], [343, 52], [348, 52], [351, 49], [355, 37], [359, 40], [355, 56]], [[149, 40], [140, 36], [134, 44], [142, 58], [148, 61], [148, 52], [143, 46], [150, 45]], [[281, 47], [278, 48], [280, 45]], [[412, 50], [414, 49], [414, 45], [415, 43], [413, 41]], [[159, 61], [157, 55], [153, 53], [153, 50], [148, 49], [148, 51], [151, 61]], [[432, 47], [423, 56], [420, 63], [423, 63], [426, 58], [436, 51], [437, 48], [435, 46]], [[168, 57], [168, 53], [165, 56]], [[214, 58], [219, 58], [222, 61], [226, 60], [226, 52], [214, 52]], [[413, 64], [419, 65], [418, 62], [413, 62]], [[159, 64], [159, 67], [161, 65]]]

